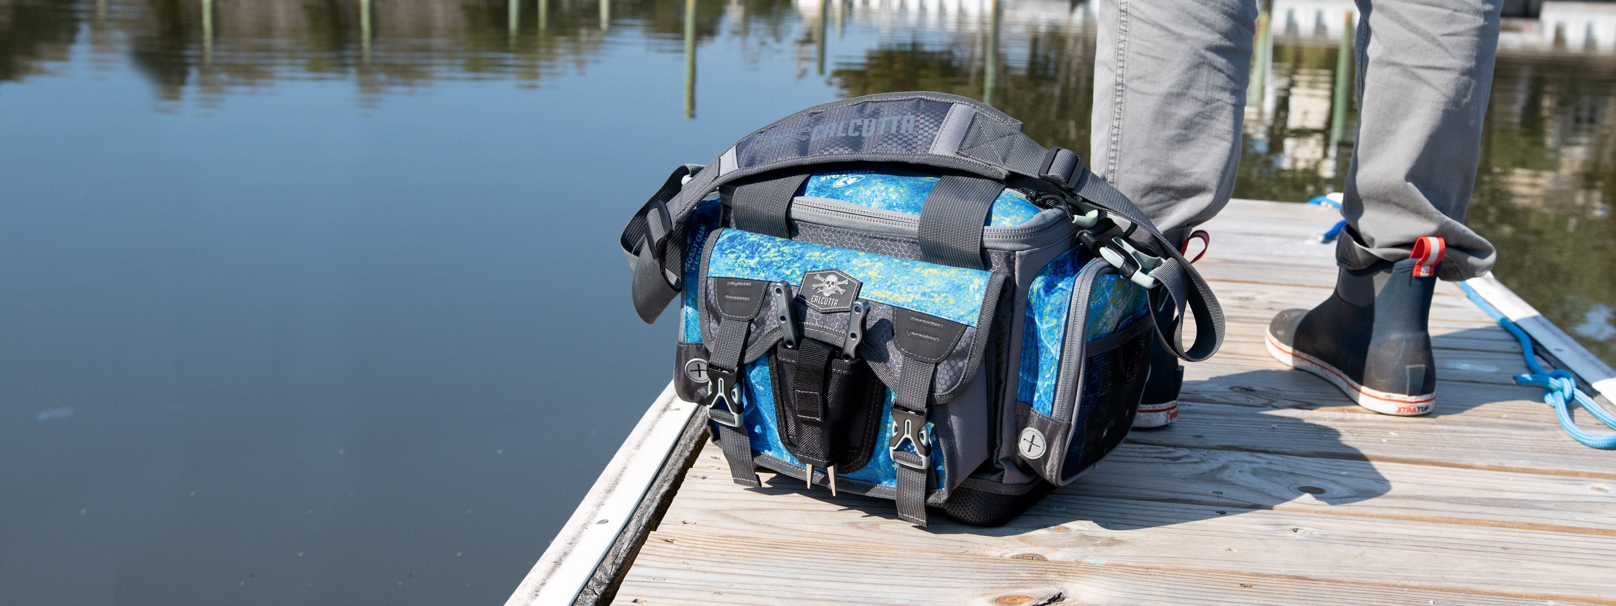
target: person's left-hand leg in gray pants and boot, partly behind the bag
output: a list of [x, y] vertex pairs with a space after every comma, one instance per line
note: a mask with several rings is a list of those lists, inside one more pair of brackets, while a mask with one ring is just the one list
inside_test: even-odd
[[[1099, 0], [1089, 168], [1183, 242], [1235, 191], [1256, 0]], [[1134, 427], [1178, 417], [1183, 367], [1151, 344]]]

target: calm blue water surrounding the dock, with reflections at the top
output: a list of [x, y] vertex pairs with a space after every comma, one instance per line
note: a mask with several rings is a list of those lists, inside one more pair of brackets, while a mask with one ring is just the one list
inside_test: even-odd
[[[1273, 8], [1238, 196], [1340, 189], [1346, 6]], [[1613, 360], [1616, 18], [1574, 8], [1509, 24], [1471, 223]], [[1088, 147], [1083, 3], [819, 15], [0, 0], [0, 603], [501, 601], [666, 383], [616, 236], [667, 170], [910, 89]]]

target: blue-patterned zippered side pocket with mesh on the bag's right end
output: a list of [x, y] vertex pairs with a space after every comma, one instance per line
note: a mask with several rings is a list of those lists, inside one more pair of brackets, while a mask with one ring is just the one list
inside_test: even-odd
[[1055, 257], [1028, 288], [1016, 401], [1016, 451], [1065, 485], [1133, 425], [1149, 368], [1147, 297], [1081, 249]]

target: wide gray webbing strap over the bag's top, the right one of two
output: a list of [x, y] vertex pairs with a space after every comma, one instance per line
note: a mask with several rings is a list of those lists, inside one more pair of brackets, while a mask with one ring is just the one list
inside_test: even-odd
[[921, 260], [986, 268], [983, 225], [1004, 189], [1004, 181], [979, 176], [944, 175], [937, 179], [920, 212]]

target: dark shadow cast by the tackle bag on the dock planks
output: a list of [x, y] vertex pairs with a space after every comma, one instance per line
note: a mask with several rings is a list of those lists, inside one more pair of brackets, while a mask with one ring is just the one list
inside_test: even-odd
[[[1267, 373], [1270, 370], [1254, 370], [1217, 381], [1264, 385]], [[1196, 383], [1202, 381], [1186, 381], [1185, 391], [1194, 393]], [[1343, 440], [1340, 430], [1273, 414], [1286, 407], [1301, 406], [1185, 402], [1173, 425], [1133, 430], [1092, 470], [1005, 525], [973, 527], [932, 511], [926, 530], [1013, 537], [1071, 522], [1134, 530], [1243, 516], [1293, 501], [1294, 509], [1328, 511], [1390, 491], [1391, 483], [1362, 451]], [[832, 498], [824, 486], [803, 491], [802, 480], [785, 475], [764, 485], [763, 491], [805, 493], [865, 517], [897, 519], [892, 501], [856, 494]]]

